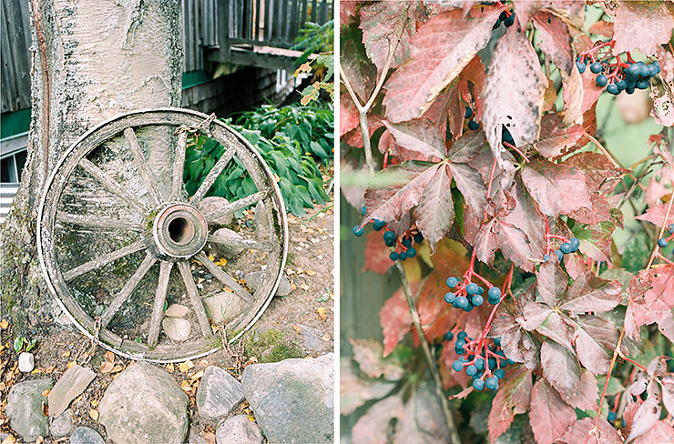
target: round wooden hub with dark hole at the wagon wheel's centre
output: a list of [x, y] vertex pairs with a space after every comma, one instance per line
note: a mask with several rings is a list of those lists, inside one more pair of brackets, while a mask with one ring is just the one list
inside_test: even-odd
[[209, 237], [206, 218], [195, 207], [172, 203], [159, 211], [152, 237], [160, 255], [184, 258], [199, 253]]

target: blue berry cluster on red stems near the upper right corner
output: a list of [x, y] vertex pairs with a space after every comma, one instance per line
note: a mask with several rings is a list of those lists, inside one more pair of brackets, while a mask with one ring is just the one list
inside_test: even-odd
[[[635, 62], [632, 56], [627, 54], [627, 62], [620, 60], [620, 56], [616, 57], [614, 62], [608, 60], [598, 60], [596, 53], [602, 48], [613, 47], [615, 42], [610, 40], [605, 43], [597, 43], [597, 45], [583, 51], [576, 60], [578, 72], [583, 74], [589, 65], [589, 70], [592, 74], [596, 74], [595, 82], [597, 86], [604, 87], [608, 94], [618, 96], [625, 91], [628, 94], [634, 93], [635, 89], [646, 89], [650, 85], [649, 79], [657, 76], [660, 72], [658, 60], [651, 64], [645, 62]], [[612, 57], [611, 55], [608, 55]]]

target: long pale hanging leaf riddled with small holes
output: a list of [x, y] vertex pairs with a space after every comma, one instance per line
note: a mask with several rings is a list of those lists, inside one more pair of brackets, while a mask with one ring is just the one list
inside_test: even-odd
[[516, 26], [510, 26], [496, 44], [483, 94], [485, 135], [500, 165], [505, 150], [501, 145], [503, 126], [516, 146], [538, 138], [546, 87], [536, 51]]

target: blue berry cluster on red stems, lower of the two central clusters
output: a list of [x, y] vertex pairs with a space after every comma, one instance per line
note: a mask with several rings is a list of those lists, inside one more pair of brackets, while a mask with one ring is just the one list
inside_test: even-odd
[[[453, 332], [447, 332], [444, 340], [451, 341], [454, 338]], [[473, 378], [473, 389], [482, 390], [498, 389], [499, 379], [506, 377], [506, 366], [515, 364], [514, 361], [506, 358], [501, 348], [501, 338], [493, 338], [492, 345], [487, 346], [487, 338], [483, 340], [473, 340], [468, 338], [465, 331], [460, 331], [456, 335], [454, 351], [457, 355], [467, 355], [456, 359], [452, 363], [452, 369], [456, 372], [465, 369], [465, 373]], [[482, 350], [479, 352], [479, 350]]]

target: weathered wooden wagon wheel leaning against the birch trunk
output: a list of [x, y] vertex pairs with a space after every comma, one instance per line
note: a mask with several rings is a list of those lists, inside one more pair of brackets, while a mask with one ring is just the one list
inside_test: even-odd
[[[186, 145], [198, 134], [224, 151], [188, 196]], [[232, 162], [250, 194], [217, 209], [199, 207]], [[222, 217], [250, 207], [254, 232], [244, 225], [234, 227], [243, 238], [213, 236]], [[240, 338], [271, 302], [288, 249], [281, 192], [262, 157], [230, 126], [179, 108], [117, 116], [81, 136], [47, 182], [37, 236], [47, 285], [77, 327], [119, 355], [157, 362], [198, 358], [222, 346], [211, 326], [217, 316], [204, 307], [214, 287], [230, 298], [220, 307], [228, 339]], [[232, 265], [209, 257], [204, 247], [212, 242], [243, 250], [242, 258]], [[250, 290], [234, 267], [263, 269], [265, 278]], [[171, 303], [189, 308], [183, 314], [189, 338], [162, 333]]]

